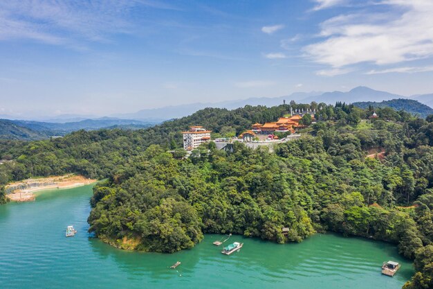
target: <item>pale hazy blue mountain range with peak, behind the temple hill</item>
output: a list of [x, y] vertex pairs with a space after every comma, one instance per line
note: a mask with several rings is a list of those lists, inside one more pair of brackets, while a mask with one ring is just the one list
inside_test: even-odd
[[149, 118], [160, 118], [160, 119], [178, 119], [183, 116], [190, 115], [198, 110], [202, 110], [205, 107], [219, 107], [227, 108], [228, 110], [235, 109], [237, 107], [244, 107], [245, 105], [266, 105], [268, 107], [274, 105], [280, 105], [286, 100], [286, 103], [290, 103], [291, 100], [295, 100], [297, 103], [326, 103], [335, 105], [337, 101], [345, 103], [358, 103], [365, 101], [383, 101], [391, 99], [413, 99], [418, 100], [420, 103], [433, 107], [433, 94], [415, 95], [415, 96], [400, 96], [398, 94], [390, 94], [386, 91], [378, 91], [369, 87], [356, 87], [347, 92], [342, 91], [331, 91], [331, 92], [295, 92], [288, 96], [279, 96], [275, 98], [247, 98], [243, 100], [230, 100], [219, 103], [191, 103], [188, 105], [174, 105], [167, 107], [160, 107], [156, 109], [140, 110], [132, 114], [116, 114], [116, 117], [121, 119], [138, 119], [145, 120]]

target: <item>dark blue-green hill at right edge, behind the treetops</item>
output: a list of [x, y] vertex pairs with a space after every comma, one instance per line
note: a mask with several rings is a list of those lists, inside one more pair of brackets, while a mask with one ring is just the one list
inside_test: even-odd
[[367, 109], [368, 107], [391, 107], [394, 110], [404, 110], [414, 115], [418, 115], [425, 119], [428, 115], [433, 114], [433, 108], [420, 103], [417, 100], [398, 98], [393, 100], [385, 100], [380, 103], [373, 101], [365, 101], [360, 103], [353, 103], [356, 107]]

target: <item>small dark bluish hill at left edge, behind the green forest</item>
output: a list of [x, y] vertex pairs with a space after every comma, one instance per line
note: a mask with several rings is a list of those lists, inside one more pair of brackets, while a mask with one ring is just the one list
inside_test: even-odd
[[42, 132], [17, 125], [17, 123], [7, 119], [0, 119], [0, 139], [34, 141], [37, 139], [46, 139], [46, 137], [47, 135]]

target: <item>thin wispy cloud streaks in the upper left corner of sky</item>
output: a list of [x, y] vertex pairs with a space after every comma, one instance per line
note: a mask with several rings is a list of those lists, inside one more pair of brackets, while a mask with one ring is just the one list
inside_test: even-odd
[[107, 41], [107, 35], [131, 32], [129, 13], [136, 6], [171, 9], [152, 0], [0, 1], [0, 40], [70, 46], [77, 40]]

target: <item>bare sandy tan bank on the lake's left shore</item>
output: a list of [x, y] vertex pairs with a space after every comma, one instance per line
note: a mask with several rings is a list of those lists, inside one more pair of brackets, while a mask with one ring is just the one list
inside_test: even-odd
[[95, 179], [87, 179], [82, 175], [62, 175], [44, 177], [39, 179], [24, 179], [20, 182], [8, 184], [5, 189], [7, 197], [15, 202], [28, 202], [35, 200], [35, 191], [49, 189], [70, 189], [76, 186], [84, 186], [96, 182]]

